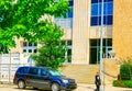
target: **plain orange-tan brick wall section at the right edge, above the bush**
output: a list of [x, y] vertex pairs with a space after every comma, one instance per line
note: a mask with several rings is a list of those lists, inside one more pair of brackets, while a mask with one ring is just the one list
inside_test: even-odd
[[132, 56], [132, 0], [114, 0], [113, 49], [119, 58]]

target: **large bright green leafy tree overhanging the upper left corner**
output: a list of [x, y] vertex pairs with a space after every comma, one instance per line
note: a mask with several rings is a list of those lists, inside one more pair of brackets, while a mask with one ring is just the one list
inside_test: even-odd
[[65, 16], [68, 10], [67, 0], [0, 0], [0, 53], [15, 47], [14, 38], [38, 41], [44, 36], [37, 30], [38, 20], [43, 15]]

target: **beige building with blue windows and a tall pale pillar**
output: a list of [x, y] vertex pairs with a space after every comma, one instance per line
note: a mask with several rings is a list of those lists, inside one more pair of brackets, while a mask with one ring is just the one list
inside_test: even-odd
[[[102, 0], [69, 0], [70, 12], [67, 18], [55, 19], [65, 35], [63, 41], [69, 46], [65, 56], [72, 55], [67, 62], [98, 64], [100, 58], [100, 30]], [[117, 50], [117, 57], [132, 55], [132, 11], [131, 0], [103, 0], [103, 56]], [[36, 53], [36, 44], [16, 41], [19, 53]]]

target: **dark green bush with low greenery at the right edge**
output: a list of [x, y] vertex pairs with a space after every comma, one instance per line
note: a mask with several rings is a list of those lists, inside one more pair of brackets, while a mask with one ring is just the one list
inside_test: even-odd
[[[130, 60], [130, 59], [128, 59]], [[114, 87], [132, 88], [132, 62], [124, 62], [120, 67], [118, 80], [113, 81]]]

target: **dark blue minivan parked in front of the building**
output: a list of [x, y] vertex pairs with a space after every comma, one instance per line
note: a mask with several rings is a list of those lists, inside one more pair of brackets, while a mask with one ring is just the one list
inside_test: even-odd
[[77, 88], [75, 79], [66, 78], [58, 70], [31, 66], [19, 67], [13, 83], [18, 84], [19, 89], [33, 87], [52, 91], [69, 91]]

